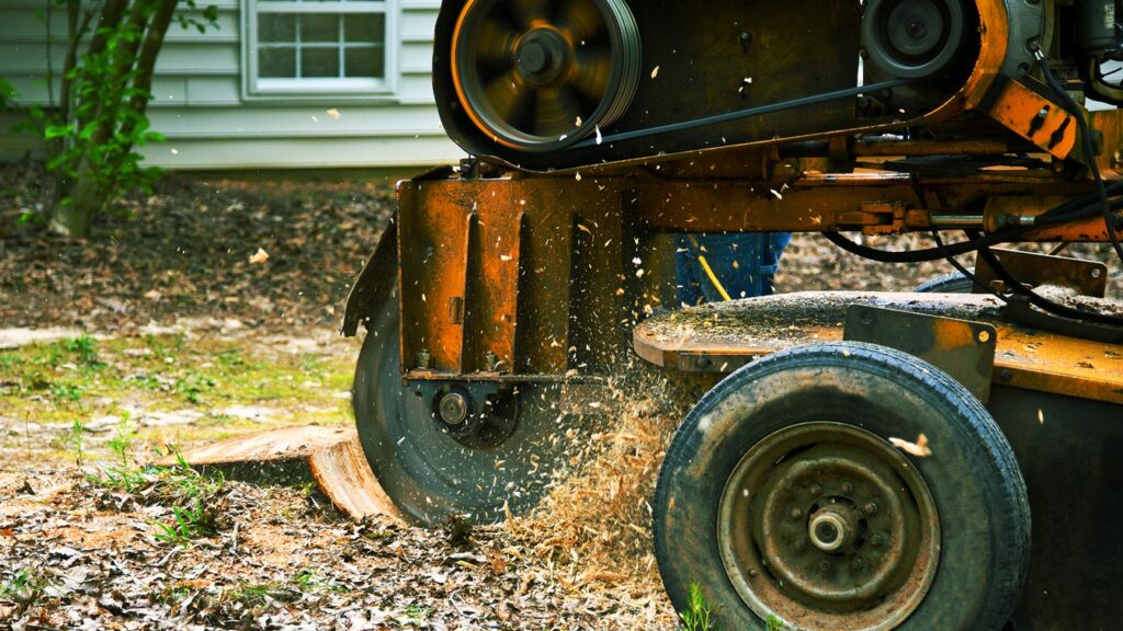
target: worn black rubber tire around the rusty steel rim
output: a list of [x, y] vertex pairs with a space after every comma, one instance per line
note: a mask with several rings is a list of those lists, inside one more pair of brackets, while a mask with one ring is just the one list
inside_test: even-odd
[[941, 552], [928, 595], [898, 629], [990, 631], [1014, 611], [1030, 551], [1030, 509], [1014, 452], [990, 414], [947, 373], [861, 342], [811, 345], [741, 367], [687, 415], [656, 490], [663, 582], [678, 611], [697, 582], [714, 629], [765, 629], [725, 575], [719, 502], [748, 448], [784, 427], [849, 423], [882, 438], [924, 433], [932, 456], [909, 457], [940, 515]]

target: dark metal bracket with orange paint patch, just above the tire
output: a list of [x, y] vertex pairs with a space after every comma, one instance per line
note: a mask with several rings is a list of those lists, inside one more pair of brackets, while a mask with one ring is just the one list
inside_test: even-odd
[[985, 322], [853, 304], [842, 339], [895, 348], [932, 364], [976, 399], [990, 399], [997, 330]]

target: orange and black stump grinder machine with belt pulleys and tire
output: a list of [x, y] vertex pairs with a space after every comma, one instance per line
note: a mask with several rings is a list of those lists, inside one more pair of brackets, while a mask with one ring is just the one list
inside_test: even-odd
[[[638, 356], [711, 387], [651, 501], [676, 607], [697, 584], [715, 629], [1120, 629], [1119, 264], [1030, 250], [1123, 259], [1121, 21], [445, 0], [433, 89], [472, 157], [399, 184], [343, 324], [380, 483], [418, 522], [526, 512]], [[672, 236], [798, 231], [959, 276], [676, 304]], [[934, 245], [866, 238], [905, 232]]]

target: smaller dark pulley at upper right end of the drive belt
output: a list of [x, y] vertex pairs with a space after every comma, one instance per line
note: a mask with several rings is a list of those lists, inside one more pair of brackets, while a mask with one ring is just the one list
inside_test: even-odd
[[861, 20], [868, 61], [889, 76], [924, 79], [951, 66], [967, 43], [960, 0], [869, 0]]

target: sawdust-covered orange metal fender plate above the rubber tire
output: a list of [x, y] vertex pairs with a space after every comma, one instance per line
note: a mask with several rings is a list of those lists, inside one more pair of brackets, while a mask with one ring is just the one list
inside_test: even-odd
[[1123, 404], [1123, 345], [1012, 324], [1002, 318], [1002, 303], [988, 295], [780, 294], [657, 316], [636, 328], [632, 342], [657, 366], [728, 373], [786, 348], [841, 340], [851, 304], [989, 322], [998, 332], [995, 384]]

